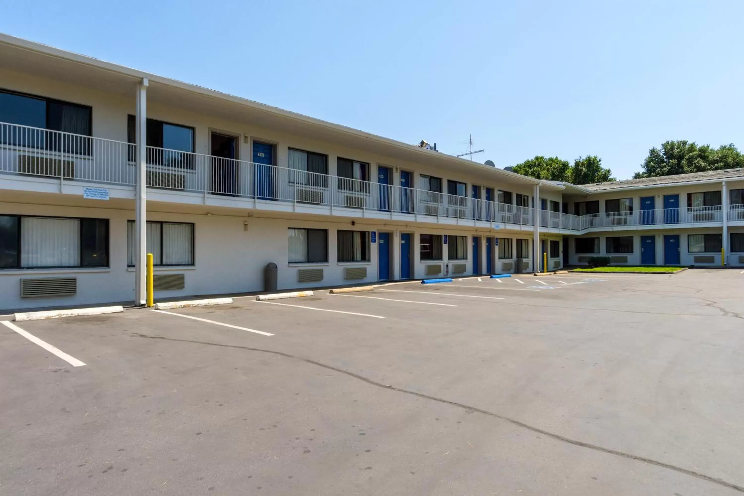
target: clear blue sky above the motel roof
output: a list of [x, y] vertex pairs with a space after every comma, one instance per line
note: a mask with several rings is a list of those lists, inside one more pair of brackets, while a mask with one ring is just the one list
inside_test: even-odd
[[744, 147], [744, 2], [5, 2], [0, 31], [478, 161]]

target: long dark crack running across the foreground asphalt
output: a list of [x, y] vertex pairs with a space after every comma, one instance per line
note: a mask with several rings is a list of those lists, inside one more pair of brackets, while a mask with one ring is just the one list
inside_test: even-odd
[[369, 379], [369, 378], [367, 378], [365, 376], [360, 376], [359, 374], [356, 374], [356, 373], [353, 373], [353, 372], [349, 372], [348, 370], [339, 369], [339, 368], [333, 367], [331, 365], [324, 364], [324, 363], [322, 363], [320, 361], [312, 360], [311, 358], [303, 358], [301, 356], [292, 355], [292, 354], [286, 353], [286, 352], [280, 352], [280, 351], [276, 351], [276, 350], [265, 350], [263, 348], [245, 347], [245, 346], [240, 346], [240, 345], [237, 345], [237, 344], [210, 343], [208, 341], [196, 341], [196, 340], [192, 340], [192, 339], [168, 338], [166, 336], [151, 336], [151, 335], [141, 334], [141, 333], [136, 333], [135, 336], [136, 337], [139, 337], [139, 338], [160, 339], [160, 340], [163, 340], [163, 341], [180, 341], [182, 343], [203, 344], [205, 346], [212, 346], [212, 347], [236, 348], [238, 350], [246, 350], [246, 351], [254, 351], [254, 352], [261, 352], [261, 353], [269, 353], [271, 355], [279, 355], [279, 356], [283, 356], [285, 358], [292, 358], [293, 360], [303, 361], [303, 362], [305, 362], [307, 364], [316, 365], [318, 367], [323, 367], [324, 369], [327, 369], [327, 370], [333, 370], [334, 372], [344, 374], [344, 376], [349, 376], [349, 377], [352, 377], [353, 379], [358, 379], [359, 381], [365, 382], [366, 384], [370, 384], [371, 386], [380, 387], [380, 388], [385, 389], [385, 390], [397, 391], [398, 393], [404, 393], [404, 394], [408, 394], [408, 395], [411, 395], [411, 396], [417, 396], [417, 397], [423, 398], [423, 399], [429, 399], [429, 400], [432, 400], [434, 402], [443, 403], [444, 405], [450, 405], [450, 406], [453, 406], [453, 407], [456, 407], [456, 408], [461, 408], [462, 410], [466, 410], [468, 412], [482, 413], [483, 415], [491, 416], [491, 417], [494, 417], [496, 419], [503, 420], [504, 422], [509, 422], [510, 424], [513, 424], [513, 425], [516, 425], [518, 427], [527, 429], [527, 431], [532, 431], [532, 432], [535, 432], [537, 434], [543, 434], [544, 436], [551, 437], [552, 439], [556, 439], [557, 441], [565, 442], [567, 444], [578, 446], [580, 448], [587, 448], [587, 449], [591, 449], [591, 450], [594, 450], [594, 451], [600, 451], [601, 453], [612, 454], [612, 455], [615, 455], [616, 457], [626, 458], [627, 460], [636, 460], [636, 461], [648, 463], [649, 465], [657, 466], [657, 467], [660, 467], [660, 468], [667, 468], [668, 470], [676, 471], [679, 474], [689, 475], [690, 477], [696, 477], [698, 479], [705, 480], [707, 482], [710, 482], [710, 483], [713, 483], [713, 484], [717, 484], [719, 486], [727, 487], [728, 489], [734, 489], [735, 491], [738, 491], [738, 492], [744, 492], [744, 486], [737, 486], [737, 484], [730, 483], [730, 482], [727, 482], [727, 481], [722, 480], [722, 479], [716, 479], [716, 477], [711, 477], [710, 475], [705, 475], [705, 474], [701, 474], [700, 472], [689, 470], [687, 468], [682, 468], [682, 467], [674, 466], [674, 465], [671, 465], [670, 463], [664, 463], [664, 462], [660, 462], [658, 460], [652, 460], [651, 458], [641, 457], [641, 456], [638, 456], [638, 455], [635, 455], [635, 454], [630, 454], [630, 453], [625, 453], [624, 451], [618, 451], [618, 450], [615, 450], [615, 449], [612, 449], [612, 448], [604, 448], [603, 446], [593, 445], [593, 444], [591, 444], [589, 442], [583, 442], [583, 441], [578, 441], [577, 439], [571, 439], [569, 437], [561, 436], [560, 434], [554, 434], [554, 433], [552, 433], [550, 431], [545, 431], [545, 430], [543, 430], [543, 429], [541, 429], [539, 427], [535, 427], [533, 425], [525, 424], [525, 422], [520, 422], [519, 420], [512, 419], [512, 418], [510, 418], [508, 416], [504, 416], [504, 415], [501, 415], [499, 413], [494, 413], [494, 412], [491, 412], [489, 410], [484, 410], [482, 408], [477, 408], [477, 407], [472, 407], [470, 405], [465, 405], [464, 403], [453, 402], [453, 401], [451, 401], [449, 399], [443, 399], [443, 398], [439, 398], [437, 396], [431, 396], [429, 394], [417, 393], [416, 391], [411, 391], [411, 390], [403, 389], [401, 387], [395, 387], [395, 386], [392, 386], [390, 384], [382, 384], [382, 382], [374, 381], [373, 379]]

